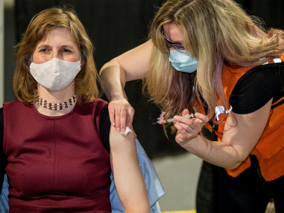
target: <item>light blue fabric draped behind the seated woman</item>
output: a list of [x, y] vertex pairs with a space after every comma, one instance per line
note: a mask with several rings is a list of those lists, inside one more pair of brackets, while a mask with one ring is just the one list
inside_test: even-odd
[[[151, 213], [160, 213], [160, 207], [158, 204], [158, 200], [164, 195], [164, 189], [162, 187], [162, 184], [159, 180], [159, 177], [156, 173], [156, 170], [148, 158], [147, 154], [145, 153], [144, 149], [142, 148], [139, 141], [136, 139], [136, 149], [137, 149], [137, 156], [139, 165], [145, 180], [148, 198], [150, 202], [150, 212]], [[120, 202], [120, 199], [117, 195], [116, 188], [114, 186], [114, 181], [112, 174], [110, 175], [110, 178], [112, 180], [110, 185], [110, 202], [112, 205], [112, 212], [113, 213], [121, 213], [125, 212], [124, 208]], [[1, 213], [8, 213], [9, 212], [9, 205], [8, 205], [8, 193], [9, 193], [9, 184], [7, 180], [7, 175], [5, 175], [2, 192], [0, 196], [0, 212]]]

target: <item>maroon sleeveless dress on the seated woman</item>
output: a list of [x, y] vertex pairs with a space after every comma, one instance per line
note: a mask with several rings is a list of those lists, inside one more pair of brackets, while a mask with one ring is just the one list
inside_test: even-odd
[[101, 99], [62, 116], [3, 104], [9, 212], [111, 212], [109, 153], [99, 135]]

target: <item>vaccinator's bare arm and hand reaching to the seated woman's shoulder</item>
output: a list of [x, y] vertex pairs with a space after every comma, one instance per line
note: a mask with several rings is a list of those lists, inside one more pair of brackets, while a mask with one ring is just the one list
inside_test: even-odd
[[128, 103], [124, 86], [127, 81], [145, 77], [152, 46], [149, 40], [107, 62], [100, 70], [104, 93], [110, 101], [110, 121], [117, 131], [124, 132], [126, 126], [132, 125], [134, 109]]

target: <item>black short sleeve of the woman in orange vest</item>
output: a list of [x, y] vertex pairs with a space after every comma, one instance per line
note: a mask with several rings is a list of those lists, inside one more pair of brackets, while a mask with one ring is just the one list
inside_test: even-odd
[[[284, 96], [284, 62], [260, 65], [246, 72], [230, 96], [232, 111], [248, 114], [260, 109], [270, 99], [272, 104]], [[281, 103], [277, 103], [277, 106]]]

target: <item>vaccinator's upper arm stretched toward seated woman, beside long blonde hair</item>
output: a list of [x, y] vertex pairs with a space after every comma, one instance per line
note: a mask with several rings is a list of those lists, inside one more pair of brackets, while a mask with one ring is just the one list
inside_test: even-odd
[[126, 81], [141, 79], [149, 67], [152, 47], [152, 40], [149, 40], [107, 62], [101, 72], [109, 66], [120, 66]]

